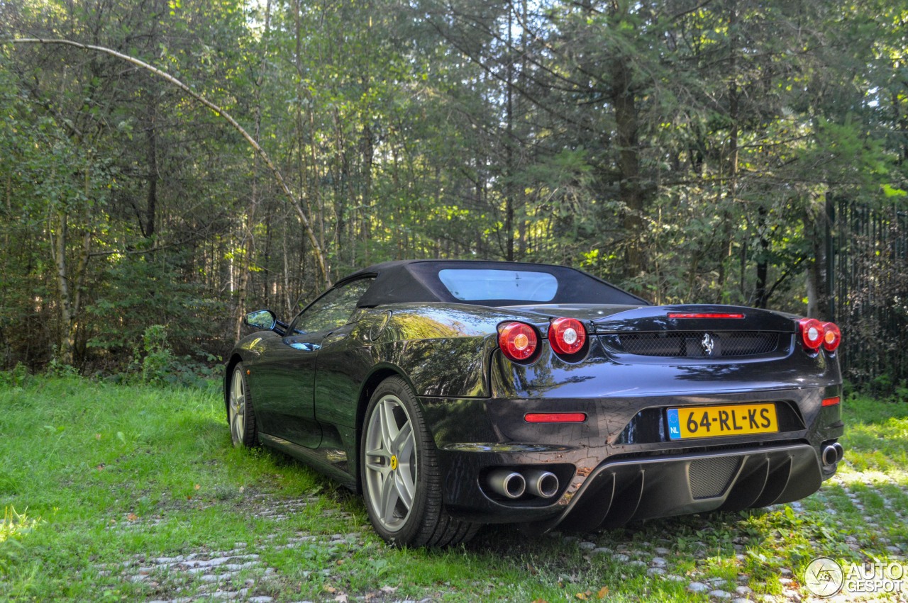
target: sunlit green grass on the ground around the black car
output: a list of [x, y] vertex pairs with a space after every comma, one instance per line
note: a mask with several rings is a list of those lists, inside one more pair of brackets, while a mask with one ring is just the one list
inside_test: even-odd
[[[846, 401], [847, 462], [794, 506], [568, 538], [489, 527], [464, 547], [394, 550], [360, 498], [280, 454], [234, 450], [217, 389], [10, 381], [0, 378], [0, 598], [207, 600], [199, 576], [143, 567], [233, 550], [259, 558], [222, 588], [275, 600], [701, 601], [690, 582], [779, 595], [819, 555], [908, 551], [905, 403]], [[655, 556], [664, 575], [647, 572]]]

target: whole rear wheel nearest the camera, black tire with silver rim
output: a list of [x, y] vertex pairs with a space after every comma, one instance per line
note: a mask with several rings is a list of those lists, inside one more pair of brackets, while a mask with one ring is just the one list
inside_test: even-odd
[[445, 510], [435, 443], [416, 395], [400, 377], [381, 382], [366, 408], [360, 478], [372, 526], [391, 545], [445, 547], [479, 530]]

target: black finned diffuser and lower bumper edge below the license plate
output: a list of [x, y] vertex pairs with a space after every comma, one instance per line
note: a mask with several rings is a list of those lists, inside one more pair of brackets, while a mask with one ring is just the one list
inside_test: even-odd
[[[443, 454], [443, 457], [448, 457]], [[529, 466], [538, 466], [528, 459]], [[444, 484], [452, 514], [480, 522], [531, 522], [538, 529], [588, 531], [642, 520], [706, 511], [741, 511], [797, 501], [819, 490], [834, 472], [822, 467], [808, 443], [754, 446], [646, 458], [610, 458], [584, 478], [569, 472], [549, 504], [491, 498], [462, 464], [450, 467]], [[458, 465], [460, 471], [458, 471]], [[511, 467], [526, 467], [510, 463]], [[565, 476], [559, 467], [541, 465]], [[825, 471], [824, 471], [825, 469]], [[453, 471], [451, 471], [453, 470]], [[453, 504], [450, 504], [453, 503]]]

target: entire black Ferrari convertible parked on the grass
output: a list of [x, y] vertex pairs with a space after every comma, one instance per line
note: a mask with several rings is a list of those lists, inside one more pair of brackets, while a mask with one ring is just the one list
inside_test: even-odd
[[595, 530], [795, 501], [841, 461], [837, 326], [652, 306], [570, 267], [411, 260], [233, 348], [233, 443], [361, 491], [384, 540]]

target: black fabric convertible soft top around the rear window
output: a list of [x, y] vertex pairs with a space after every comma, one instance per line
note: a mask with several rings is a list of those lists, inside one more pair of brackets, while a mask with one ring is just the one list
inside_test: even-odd
[[366, 294], [360, 298], [360, 307], [382, 306], [409, 302], [448, 302], [482, 306], [519, 306], [532, 303], [531, 299], [459, 299], [441, 282], [442, 269], [497, 269], [510, 272], [543, 272], [558, 279], [558, 290], [548, 300], [549, 304], [621, 304], [649, 306], [645, 299], [627, 293], [606, 281], [575, 268], [548, 264], [518, 262], [459, 260], [459, 259], [410, 259], [385, 262], [354, 272], [341, 282], [361, 277], [375, 277]]

